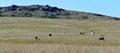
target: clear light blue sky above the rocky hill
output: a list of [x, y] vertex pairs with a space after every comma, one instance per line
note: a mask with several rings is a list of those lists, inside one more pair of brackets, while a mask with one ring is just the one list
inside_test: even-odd
[[120, 17], [120, 0], [0, 0], [0, 7], [36, 4]]

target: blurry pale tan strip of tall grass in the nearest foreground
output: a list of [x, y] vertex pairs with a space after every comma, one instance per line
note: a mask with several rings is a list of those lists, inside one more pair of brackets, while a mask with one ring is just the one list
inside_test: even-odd
[[120, 46], [77, 46], [60, 44], [1, 44], [0, 53], [119, 53]]

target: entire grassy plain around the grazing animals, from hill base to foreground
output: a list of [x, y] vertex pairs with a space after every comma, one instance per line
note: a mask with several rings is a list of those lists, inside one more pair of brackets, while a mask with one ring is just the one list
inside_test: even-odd
[[115, 20], [0, 17], [0, 53], [119, 53], [119, 32]]

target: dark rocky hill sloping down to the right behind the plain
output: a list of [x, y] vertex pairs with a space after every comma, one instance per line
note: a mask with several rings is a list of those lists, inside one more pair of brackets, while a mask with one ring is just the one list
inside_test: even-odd
[[101, 14], [77, 12], [65, 10], [49, 5], [30, 5], [30, 6], [7, 6], [0, 7], [0, 17], [42, 17], [58, 19], [101, 19], [101, 20], [120, 20], [117, 17], [111, 17]]

